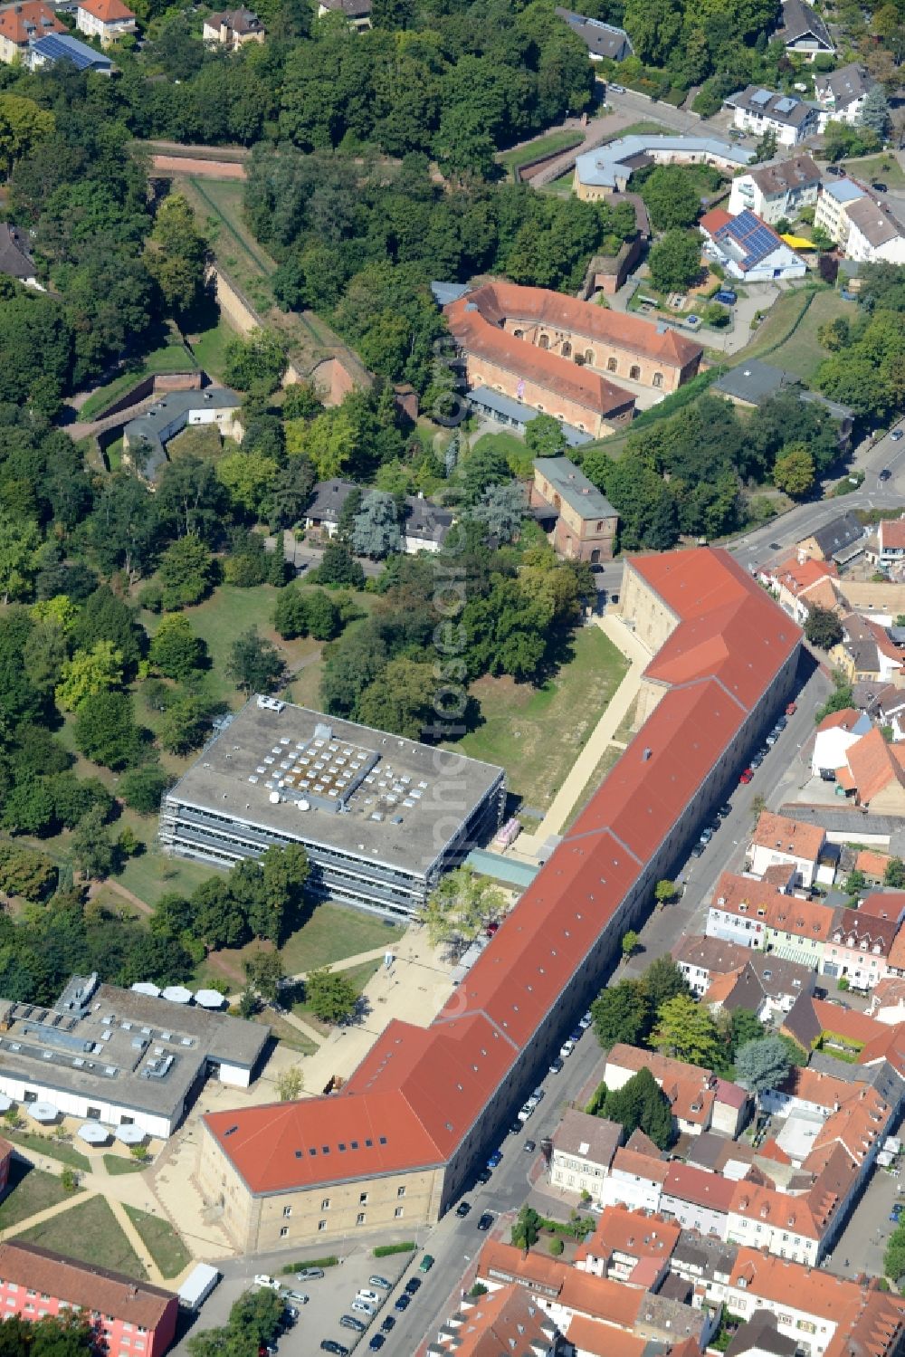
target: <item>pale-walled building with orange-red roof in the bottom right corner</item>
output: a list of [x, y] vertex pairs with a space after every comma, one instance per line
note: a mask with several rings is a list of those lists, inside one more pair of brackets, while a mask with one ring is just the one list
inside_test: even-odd
[[894, 1357], [905, 1330], [905, 1301], [878, 1291], [875, 1281], [814, 1272], [757, 1248], [738, 1250], [725, 1295], [741, 1319], [769, 1311], [806, 1357]]

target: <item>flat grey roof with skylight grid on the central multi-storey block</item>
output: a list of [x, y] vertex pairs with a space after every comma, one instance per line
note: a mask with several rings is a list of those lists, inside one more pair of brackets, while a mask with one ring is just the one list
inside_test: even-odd
[[166, 801], [423, 877], [502, 778], [455, 750], [252, 696]]

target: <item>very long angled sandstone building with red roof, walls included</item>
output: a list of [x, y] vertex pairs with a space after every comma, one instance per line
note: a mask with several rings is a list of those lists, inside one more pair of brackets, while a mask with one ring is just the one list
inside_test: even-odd
[[651, 714], [431, 1026], [389, 1023], [339, 1094], [204, 1118], [201, 1187], [243, 1248], [459, 1198], [788, 702], [801, 632], [725, 551], [628, 562], [623, 608], [659, 651]]

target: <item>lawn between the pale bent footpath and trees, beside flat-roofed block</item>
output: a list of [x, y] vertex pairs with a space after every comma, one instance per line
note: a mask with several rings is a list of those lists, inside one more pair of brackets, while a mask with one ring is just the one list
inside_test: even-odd
[[552, 802], [628, 668], [598, 627], [582, 628], [573, 651], [543, 688], [490, 677], [472, 684], [483, 723], [456, 746], [502, 764], [510, 791], [537, 810]]

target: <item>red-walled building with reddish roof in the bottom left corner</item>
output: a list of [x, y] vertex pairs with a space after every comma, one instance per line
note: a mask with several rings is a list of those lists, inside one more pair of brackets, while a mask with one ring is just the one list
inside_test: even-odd
[[3, 1318], [24, 1322], [81, 1311], [99, 1348], [163, 1357], [176, 1337], [179, 1297], [147, 1281], [75, 1262], [20, 1240], [0, 1243]]

